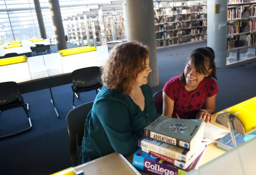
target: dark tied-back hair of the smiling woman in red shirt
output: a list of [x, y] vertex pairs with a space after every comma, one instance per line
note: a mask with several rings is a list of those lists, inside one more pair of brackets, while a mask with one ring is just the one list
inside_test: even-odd
[[[217, 79], [214, 58], [215, 58], [215, 53], [212, 48], [200, 47], [195, 49], [190, 54], [189, 58], [187, 59], [187, 63], [191, 60], [194, 63], [196, 70], [200, 74], [204, 74], [204, 75], [208, 74], [209, 69], [212, 69], [208, 77]], [[186, 84], [184, 71], [181, 76], [181, 82], [183, 84]]]

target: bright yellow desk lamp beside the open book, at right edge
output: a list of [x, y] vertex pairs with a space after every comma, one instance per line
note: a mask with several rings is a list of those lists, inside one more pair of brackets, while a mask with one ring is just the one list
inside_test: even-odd
[[256, 129], [256, 97], [220, 111], [215, 122], [229, 128], [234, 148], [237, 147], [233, 131], [246, 135]]

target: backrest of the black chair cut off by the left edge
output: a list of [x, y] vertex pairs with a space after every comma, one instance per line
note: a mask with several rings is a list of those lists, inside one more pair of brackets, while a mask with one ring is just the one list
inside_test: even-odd
[[16, 82], [7, 81], [0, 83], [0, 107], [17, 100], [17, 97], [18, 102], [22, 104], [23, 98]]

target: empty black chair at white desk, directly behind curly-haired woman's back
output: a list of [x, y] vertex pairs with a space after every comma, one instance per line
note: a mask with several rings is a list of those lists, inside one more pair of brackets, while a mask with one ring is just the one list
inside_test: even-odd
[[87, 67], [72, 72], [73, 86], [73, 108], [74, 108], [74, 96], [79, 98], [80, 92], [87, 92], [95, 90], [96, 94], [102, 87], [100, 80], [101, 70], [99, 67]]

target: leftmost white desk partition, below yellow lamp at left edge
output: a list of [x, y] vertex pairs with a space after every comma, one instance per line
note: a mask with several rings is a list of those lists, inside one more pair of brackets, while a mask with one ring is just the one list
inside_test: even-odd
[[17, 83], [31, 80], [27, 62], [0, 66], [0, 82], [15, 81]]

